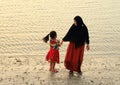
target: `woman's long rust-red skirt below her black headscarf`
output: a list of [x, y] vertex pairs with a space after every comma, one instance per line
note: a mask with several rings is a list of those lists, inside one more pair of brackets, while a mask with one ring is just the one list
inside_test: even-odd
[[83, 61], [83, 55], [84, 45], [75, 48], [75, 43], [70, 42], [64, 61], [65, 67], [68, 70], [80, 72], [81, 64]]

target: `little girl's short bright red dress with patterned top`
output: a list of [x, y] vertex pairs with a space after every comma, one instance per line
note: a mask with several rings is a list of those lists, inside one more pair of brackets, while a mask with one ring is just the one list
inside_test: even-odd
[[59, 63], [59, 46], [57, 41], [50, 40], [50, 50], [46, 56], [46, 60], [53, 63]]

